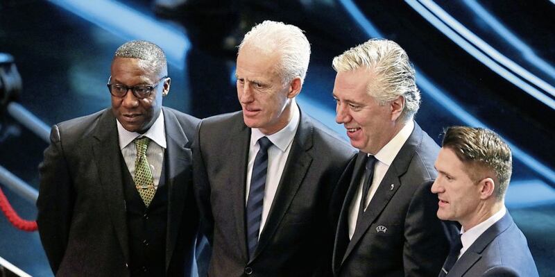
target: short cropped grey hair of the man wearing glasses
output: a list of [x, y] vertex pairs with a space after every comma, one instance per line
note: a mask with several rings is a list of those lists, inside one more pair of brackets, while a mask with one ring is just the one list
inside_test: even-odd
[[115, 58], [137, 58], [151, 64], [157, 74], [167, 75], [168, 65], [164, 51], [156, 44], [145, 40], [126, 42], [114, 53]]

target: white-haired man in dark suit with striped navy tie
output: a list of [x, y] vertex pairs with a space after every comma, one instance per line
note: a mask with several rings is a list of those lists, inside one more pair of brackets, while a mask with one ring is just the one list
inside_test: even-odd
[[204, 119], [193, 147], [209, 276], [329, 276], [330, 199], [353, 149], [298, 108], [310, 46], [265, 21], [237, 55], [242, 111]]

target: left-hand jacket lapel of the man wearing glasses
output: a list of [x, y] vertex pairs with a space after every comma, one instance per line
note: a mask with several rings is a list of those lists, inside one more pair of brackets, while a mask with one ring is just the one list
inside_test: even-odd
[[112, 110], [106, 109], [93, 132], [94, 161], [100, 178], [102, 191], [114, 230], [119, 240], [123, 257], [129, 261], [129, 242], [126, 221], [126, 203], [123, 196], [121, 176], [121, 151], [117, 134], [116, 119]]

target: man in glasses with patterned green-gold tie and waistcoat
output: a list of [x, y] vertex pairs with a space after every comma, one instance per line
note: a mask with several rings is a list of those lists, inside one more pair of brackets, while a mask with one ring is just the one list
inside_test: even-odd
[[39, 233], [56, 276], [189, 276], [199, 120], [162, 107], [170, 78], [151, 42], [117, 49], [112, 108], [53, 126], [40, 165]]

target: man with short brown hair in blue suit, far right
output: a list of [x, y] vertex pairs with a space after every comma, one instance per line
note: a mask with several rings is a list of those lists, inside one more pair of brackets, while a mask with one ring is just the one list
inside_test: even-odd
[[447, 128], [432, 192], [437, 216], [462, 227], [439, 276], [538, 276], [526, 237], [504, 206], [512, 167], [509, 145], [493, 131]]

